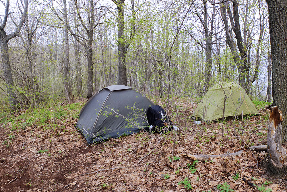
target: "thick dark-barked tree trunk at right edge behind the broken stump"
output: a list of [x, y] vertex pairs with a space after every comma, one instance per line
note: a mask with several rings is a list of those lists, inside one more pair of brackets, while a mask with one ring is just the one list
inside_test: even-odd
[[[272, 96], [274, 105], [287, 115], [287, 1], [266, 0], [269, 10], [269, 30], [272, 56]], [[286, 118], [282, 122], [287, 141]]]

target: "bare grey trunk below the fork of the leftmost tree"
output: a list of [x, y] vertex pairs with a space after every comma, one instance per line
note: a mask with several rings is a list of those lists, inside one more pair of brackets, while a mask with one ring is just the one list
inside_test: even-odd
[[16, 100], [16, 94], [14, 92], [12, 70], [11, 70], [9, 54], [8, 54], [8, 41], [5, 41], [3, 37], [5, 35], [6, 35], [5, 31], [1, 30], [0, 31], [1, 58], [2, 58], [2, 63], [3, 63], [4, 79], [5, 79], [7, 93], [8, 93], [9, 104], [10, 104], [10, 107], [13, 109], [15, 108], [17, 104], [17, 100]]

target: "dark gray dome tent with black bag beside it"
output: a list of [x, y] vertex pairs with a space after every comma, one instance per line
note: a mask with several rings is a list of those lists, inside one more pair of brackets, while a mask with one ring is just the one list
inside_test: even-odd
[[152, 101], [125, 85], [111, 85], [94, 94], [79, 114], [76, 128], [88, 144], [132, 134], [148, 126]]

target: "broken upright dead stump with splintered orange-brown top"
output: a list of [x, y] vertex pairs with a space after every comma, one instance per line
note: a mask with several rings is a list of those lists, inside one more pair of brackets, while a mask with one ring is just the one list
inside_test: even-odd
[[267, 132], [267, 156], [261, 162], [262, 168], [271, 177], [287, 178], [287, 153], [282, 146], [283, 115], [278, 107], [271, 107]]

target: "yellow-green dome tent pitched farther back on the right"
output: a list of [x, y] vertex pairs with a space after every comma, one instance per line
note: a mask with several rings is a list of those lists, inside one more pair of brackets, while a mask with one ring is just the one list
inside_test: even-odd
[[[224, 104], [225, 100], [225, 104]], [[225, 105], [225, 109], [224, 109]], [[213, 121], [224, 117], [257, 114], [258, 111], [245, 90], [234, 82], [216, 83], [199, 102], [193, 115], [204, 121]]]

